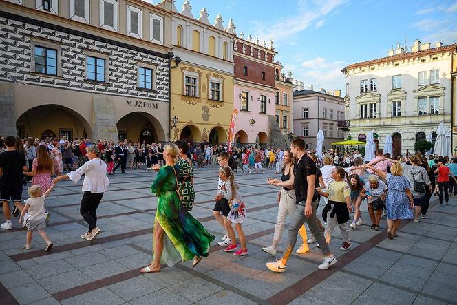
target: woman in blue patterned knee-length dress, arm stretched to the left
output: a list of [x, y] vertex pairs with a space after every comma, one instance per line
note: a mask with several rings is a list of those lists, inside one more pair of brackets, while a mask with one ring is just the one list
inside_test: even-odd
[[390, 167], [391, 175], [378, 171], [374, 167], [368, 167], [376, 174], [387, 178], [387, 198], [385, 205], [387, 207], [387, 237], [393, 239], [396, 237], [396, 229], [402, 219], [412, 219], [414, 202], [411, 193], [411, 185], [405, 176], [400, 163], [394, 163]]

